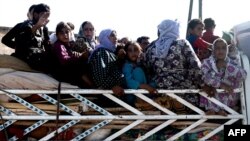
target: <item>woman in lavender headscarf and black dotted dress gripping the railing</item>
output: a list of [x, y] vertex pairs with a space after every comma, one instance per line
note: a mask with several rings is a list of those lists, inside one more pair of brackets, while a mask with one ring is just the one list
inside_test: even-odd
[[117, 56], [116, 31], [102, 30], [99, 35], [100, 45], [96, 47], [89, 59], [94, 84], [99, 89], [112, 89], [114, 94], [123, 95], [124, 77], [119, 69]]

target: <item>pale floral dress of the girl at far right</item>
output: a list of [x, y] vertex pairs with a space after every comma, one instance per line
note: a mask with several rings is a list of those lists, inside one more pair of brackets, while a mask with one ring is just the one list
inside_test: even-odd
[[[232, 88], [239, 88], [241, 82], [246, 78], [246, 71], [237, 65], [237, 62], [226, 59], [227, 65], [224, 69], [217, 69], [215, 59], [213, 56], [205, 59], [202, 63], [202, 79], [204, 82], [212, 87], [220, 88], [221, 84], [227, 84]], [[216, 93], [215, 98], [225, 105], [233, 108], [239, 101], [239, 93]], [[211, 101], [201, 97], [200, 106], [205, 107], [206, 110], [214, 110], [218, 112], [220, 107]]]

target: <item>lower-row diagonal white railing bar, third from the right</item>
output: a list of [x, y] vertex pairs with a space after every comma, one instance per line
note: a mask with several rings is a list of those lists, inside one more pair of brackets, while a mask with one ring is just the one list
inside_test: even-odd
[[168, 121], [162, 123], [161, 125], [159, 125], [159, 126], [155, 127], [154, 129], [150, 130], [149, 132], [147, 132], [143, 136], [140, 136], [139, 138], [137, 138], [136, 141], [142, 141], [142, 140], [148, 138], [149, 136], [153, 135], [154, 133], [158, 132], [159, 130], [165, 128], [166, 126], [170, 125], [171, 123], [173, 123], [175, 121], [176, 120], [168, 120]]

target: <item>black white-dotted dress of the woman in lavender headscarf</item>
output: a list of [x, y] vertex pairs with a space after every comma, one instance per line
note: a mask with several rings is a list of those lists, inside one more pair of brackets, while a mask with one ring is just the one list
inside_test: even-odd
[[105, 48], [93, 52], [89, 60], [94, 84], [101, 89], [112, 89], [124, 84], [124, 76], [116, 55]]

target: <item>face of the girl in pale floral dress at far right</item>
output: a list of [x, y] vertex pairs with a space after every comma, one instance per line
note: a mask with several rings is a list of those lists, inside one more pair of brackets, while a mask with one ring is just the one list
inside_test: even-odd
[[219, 41], [214, 45], [214, 56], [216, 59], [224, 60], [227, 56], [227, 45]]

